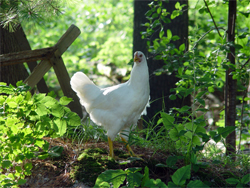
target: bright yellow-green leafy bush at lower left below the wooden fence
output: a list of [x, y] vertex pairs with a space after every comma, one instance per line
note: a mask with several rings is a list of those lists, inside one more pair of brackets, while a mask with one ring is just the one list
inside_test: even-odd
[[0, 185], [18, 186], [31, 174], [31, 159], [57, 157], [62, 147], [49, 149], [44, 136], [61, 137], [67, 126], [78, 126], [80, 118], [67, 105], [72, 100], [59, 101], [49, 94], [34, 94], [21, 81], [17, 87], [0, 84]]

